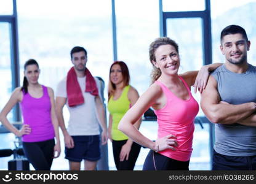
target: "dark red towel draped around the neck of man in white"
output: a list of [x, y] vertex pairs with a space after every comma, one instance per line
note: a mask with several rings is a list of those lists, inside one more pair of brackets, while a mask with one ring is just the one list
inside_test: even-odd
[[[94, 80], [94, 77], [92, 76], [92, 74], [90, 74], [89, 69], [86, 68], [85, 74], [86, 74], [85, 92], [89, 92], [94, 96], [98, 96], [98, 88]], [[68, 105], [70, 107], [84, 103], [84, 96], [82, 95], [82, 91], [79, 86], [78, 77], [76, 76], [74, 67], [71, 67], [70, 71], [68, 71], [68, 76], [66, 79], [66, 92], [68, 95]]]

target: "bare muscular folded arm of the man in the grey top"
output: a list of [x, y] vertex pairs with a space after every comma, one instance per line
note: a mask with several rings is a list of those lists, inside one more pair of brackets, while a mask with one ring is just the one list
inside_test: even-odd
[[212, 123], [230, 125], [244, 120], [255, 112], [255, 103], [233, 105], [220, 103], [220, 95], [217, 91], [217, 82], [210, 75], [208, 85], [201, 94], [201, 107], [206, 117]]

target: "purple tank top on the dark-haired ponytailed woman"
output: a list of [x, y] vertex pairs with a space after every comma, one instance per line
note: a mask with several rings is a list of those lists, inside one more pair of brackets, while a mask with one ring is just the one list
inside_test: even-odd
[[20, 102], [23, 123], [30, 125], [29, 135], [23, 135], [23, 142], [40, 142], [54, 139], [54, 126], [51, 119], [50, 96], [47, 87], [42, 85], [43, 95], [41, 98], [33, 98], [30, 93], [23, 91], [23, 99]]

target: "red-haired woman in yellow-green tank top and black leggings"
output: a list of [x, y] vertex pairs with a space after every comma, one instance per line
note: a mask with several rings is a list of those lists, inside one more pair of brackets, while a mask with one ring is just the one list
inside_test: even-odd
[[[114, 163], [118, 170], [133, 170], [140, 145], [118, 130], [119, 121], [138, 99], [138, 92], [129, 85], [129, 70], [123, 61], [115, 61], [110, 67], [108, 83], [108, 111], [110, 112], [108, 134], [112, 142]], [[141, 118], [135, 123], [140, 127]]]

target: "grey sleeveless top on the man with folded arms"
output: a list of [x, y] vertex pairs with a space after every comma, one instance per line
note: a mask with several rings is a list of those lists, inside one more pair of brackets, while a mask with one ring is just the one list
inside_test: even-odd
[[[225, 64], [211, 74], [217, 80], [217, 90], [222, 101], [229, 104], [256, 102], [256, 67], [249, 64], [247, 71], [236, 74], [226, 69]], [[228, 156], [256, 155], [256, 128], [215, 124], [217, 153]]]

